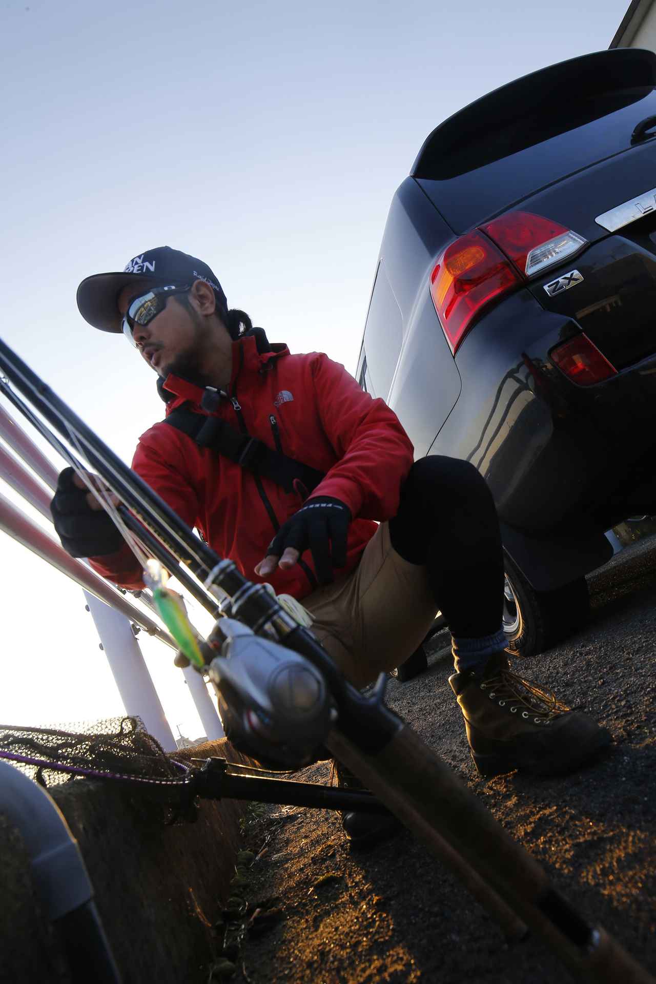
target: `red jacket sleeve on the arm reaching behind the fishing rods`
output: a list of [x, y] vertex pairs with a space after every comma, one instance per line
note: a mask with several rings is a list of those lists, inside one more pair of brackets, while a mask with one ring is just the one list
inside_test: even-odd
[[[166, 428], [163, 434], [160, 427]], [[167, 433], [169, 431], [170, 434]], [[139, 439], [132, 467], [177, 513], [183, 523], [188, 526], [196, 523], [198, 497], [185, 477], [184, 455], [172, 428], [167, 424], [155, 424], [143, 434]], [[137, 590], [144, 586], [141, 564], [127, 543], [116, 553], [104, 557], [89, 557], [89, 564], [97, 574], [121, 587]]]

